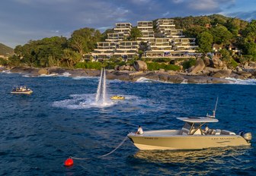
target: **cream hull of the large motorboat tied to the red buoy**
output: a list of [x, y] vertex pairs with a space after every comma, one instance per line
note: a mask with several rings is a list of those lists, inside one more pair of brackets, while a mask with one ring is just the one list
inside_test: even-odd
[[243, 137], [239, 135], [171, 135], [150, 136], [128, 134], [133, 144], [142, 150], [154, 149], [206, 149], [225, 146], [250, 146]]

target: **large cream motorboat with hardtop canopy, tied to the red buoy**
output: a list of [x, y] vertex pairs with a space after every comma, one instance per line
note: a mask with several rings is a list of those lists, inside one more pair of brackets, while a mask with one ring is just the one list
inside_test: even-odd
[[208, 123], [216, 123], [213, 115], [205, 117], [177, 118], [184, 122], [181, 130], [146, 130], [143, 134], [130, 133], [128, 137], [142, 150], [153, 149], [206, 149], [224, 146], [250, 146], [251, 133], [235, 134], [229, 130], [203, 130]]

